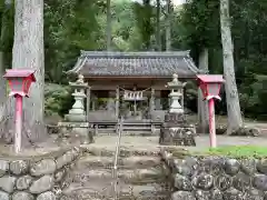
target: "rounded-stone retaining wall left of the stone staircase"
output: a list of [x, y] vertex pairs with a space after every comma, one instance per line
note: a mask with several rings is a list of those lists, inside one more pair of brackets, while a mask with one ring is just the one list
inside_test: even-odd
[[0, 200], [56, 200], [77, 148], [32, 158], [0, 158]]

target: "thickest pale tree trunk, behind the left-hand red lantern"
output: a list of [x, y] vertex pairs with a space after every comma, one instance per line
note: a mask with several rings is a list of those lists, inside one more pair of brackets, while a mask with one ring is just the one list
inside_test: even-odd
[[47, 138], [43, 123], [43, 0], [16, 0], [14, 9], [12, 68], [31, 68], [36, 70], [37, 79], [30, 88], [30, 98], [23, 98], [22, 137], [24, 141], [38, 142]]

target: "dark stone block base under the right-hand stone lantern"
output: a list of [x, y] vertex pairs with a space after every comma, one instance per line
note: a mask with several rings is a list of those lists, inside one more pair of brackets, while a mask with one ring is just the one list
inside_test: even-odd
[[159, 143], [162, 146], [196, 146], [196, 128], [188, 124], [184, 113], [167, 113], [160, 128]]

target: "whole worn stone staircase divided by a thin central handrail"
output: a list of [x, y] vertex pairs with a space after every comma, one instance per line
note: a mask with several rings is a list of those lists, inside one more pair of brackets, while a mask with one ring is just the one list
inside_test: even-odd
[[61, 200], [169, 199], [168, 171], [158, 150], [121, 147], [118, 179], [112, 174], [113, 159], [115, 148], [88, 147], [67, 176]]

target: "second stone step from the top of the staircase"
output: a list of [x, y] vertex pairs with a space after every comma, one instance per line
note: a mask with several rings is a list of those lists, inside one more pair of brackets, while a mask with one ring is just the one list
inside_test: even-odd
[[[118, 159], [118, 169], [144, 169], [161, 164], [159, 157], [132, 156]], [[113, 157], [96, 157], [90, 153], [85, 154], [76, 163], [77, 169], [113, 168]]]

